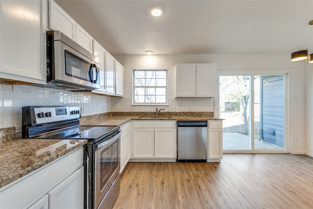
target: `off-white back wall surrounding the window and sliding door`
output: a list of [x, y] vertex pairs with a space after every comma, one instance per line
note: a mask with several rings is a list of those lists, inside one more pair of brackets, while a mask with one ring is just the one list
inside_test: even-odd
[[[303, 62], [291, 62], [290, 54], [193, 54], [193, 55], [114, 55], [124, 66], [124, 97], [112, 98], [112, 110], [135, 109], [132, 103], [132, 70], [133, 69], [168, 69], [168, 96], [170, 100], [169, 111], [176, 105], [176, 111], [190, 109], [214, 110], [213, 98], [209, 102], [192, 103], [194, 107], [188, 108], [188, 99], [174, 98], [174, 66], [177, 63], [216, 63], [219, 70], [264, 70], [266, 72], [290, 73], [290, 147], [293, 154], [304, 154], [305, 128], [304, 128], [304, 64]], [[296, 100], [294, 98], [296, 97]], [[313, 100], [313, 98], [312, 98]], [[184, 104], [179, 107], [179, 103]], [[173, 104], [174, 103], [174, 104]], [[173, 105], [172, 105], [173, 104]], [[189, 103], [190, 106], [192, 106]], [[213, 105], [213, 107], [212, 107]], [[153, 110], [149, 107], [141, 107], [141, 110]], [[313, 123], [313, 121], [312, 121]], [[311, 135], [312, 136], [312, 135]], [[297, 139], [295, 142], [294, 139]], [[313, 144], [312, 144], [313, 145]]]

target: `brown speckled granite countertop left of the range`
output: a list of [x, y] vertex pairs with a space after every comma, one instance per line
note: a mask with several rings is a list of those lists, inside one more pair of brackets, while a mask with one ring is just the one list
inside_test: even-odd
[[15, 139], [0, 142], [0, 188], [83, 146], [85, 139]]

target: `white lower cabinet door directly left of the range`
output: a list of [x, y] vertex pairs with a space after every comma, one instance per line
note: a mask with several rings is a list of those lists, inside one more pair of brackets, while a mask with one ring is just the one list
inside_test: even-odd
[[49, 194], [49, 209], [84, 208], [84, 167], [79, 168]]

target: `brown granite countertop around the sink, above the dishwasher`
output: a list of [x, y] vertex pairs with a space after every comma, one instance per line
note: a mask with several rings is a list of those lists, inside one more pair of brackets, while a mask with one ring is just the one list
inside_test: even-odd
[[152, 112], [111, 112], [81, 118], [81, 125], [117, 126], [130, 120], [178, 120], [178, 121], [205, 121], [223, 120], [214, 117], [213, 112], [160, 112], [158, 116]]

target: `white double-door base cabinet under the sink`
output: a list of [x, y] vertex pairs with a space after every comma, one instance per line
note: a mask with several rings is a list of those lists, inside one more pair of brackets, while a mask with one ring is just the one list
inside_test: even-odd
[[134, 121], [133, 158], [176, 159], [176, 121]]

